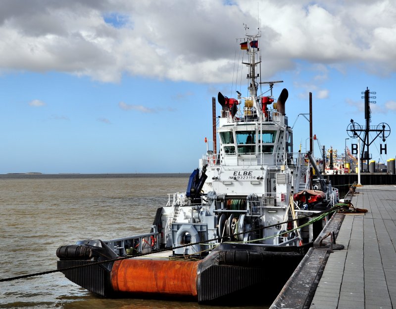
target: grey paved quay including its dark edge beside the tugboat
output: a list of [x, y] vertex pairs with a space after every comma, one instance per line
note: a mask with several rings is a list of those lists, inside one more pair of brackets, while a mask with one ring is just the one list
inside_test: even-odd
[[395, 201], [395, 185], [357, 187], [351, 203], [368, 212], [333, 216], [344, 249], [312, 248], [270, 308], [396, 308]]

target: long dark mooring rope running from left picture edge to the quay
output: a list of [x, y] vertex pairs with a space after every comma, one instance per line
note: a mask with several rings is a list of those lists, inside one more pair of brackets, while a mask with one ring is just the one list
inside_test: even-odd
[[[346, 206], [349, 207], [349, 204], [338, 203], [338, 204], [336, 204], [335, 206], [333, 206], [330, 209], [323, 210], [323, 211], [317, 212], [315, 214], [319, 215], [319, 216], [323, 215], [323, 217], [324, 217], [325, 215], [330, 214], [332, 212], [335, 212], [338, 209], [346, 207]], [[276, 224], [272, 224], [272, 225], [258, 227], [258, 228], [255, 228], [255, 229], [251, 229], [249, 231], [245, 231], [245, 232], [234, 234], [233, 236], [241, 235], [241, 234], [245, 234], [245, 233], [251, 233], [251, 232], [255, 232], [255, 231], [260, 231], [260, 230], [268, 229], [268, 228], [272, 228], [272, 227], [276, 227], [276, 226], [279, 226], [279, 225], [282, 225], [282, 224], [287, 224], [287, 223], [294, 222], [296, 220], [304, 219], [304, 218], [307, 218], [309, 216], [311, 216], [311, 215], [306, 215], [306, 216], [303, 216], [303, 217], [300, 217], [300, 218], [296, 218], [296, 219], [292, 219], [292, 220], [288, 220], [288, 221], [285, 221], [285, 222], [282, 222], [282, 223], [276, 223]], [[317, 220], [315, 220], [315, 221], [317, 221]], [[308, 224], [306, 223], [303, 226], [305, 226], [305, 225], [308, 225]], [[76, 266], [65, 267], [65, 268], [60, 268], [60, 269], [53, 269], [53, 270], [49, 270], [49, 271], [37, 272], [37, 273], [27, 274], [27, 275], [22, 275], [22, 276], [3, 278], [3, 279], [0, 279], [0, 282], [13, 281], [13, 280], [24, 279], [24, 278], [29, 278], [29, 277], [42, 276], [42, 275], [47, 275], [47, 274], [51, 274], [51, 273], [55, 273], [55, 272], [64, 272], [64, 271], [72, 270], [72, 269], [78, 269], [78, 268], [94, 266], [94, 265], [99, 265], [99, 264], [104, 264], [104, 263], [110, 263], [110, 262], [114, 262], [114, 261], [118, 261], [118, 260], [123, 260], [123, 259], [138, 257], [138, 256], [144, 256], [144, 255], [149, 255], [149, 254], [155, 254], [155, 253], [169, 251], [169, 250], [174, 250], [174, 249], [179, 249], [179, 248], [183, 248], [183, 247], [190, 247], [190, 246], [194, 246], [194, 245], [199, 245], [201, 243], [208, 243], [208, 242], [218, 241], [218, 240], [222, 240], [224, 238], [229, 238], [229, 236], [227, 235], [227, 236], [223, 236], [223, 237], [212, 238], [212, 239], [209, 239], [209, 240], [206, 240], [206, 241], [203, 241], [203, 242], [200, 241], [200, 242], [197, 242], [197, 243], [189, 243], [189, 244], [181, 245], [181, 246], [178, 246], [178, 247], [169, 247], [169, 248], [158, 249], [158, 250], [151, 251], [151, 252], [148, 252], [148, 253], [138, 253], [138, 254], [135, 254], [135, 255], [119, 256], [119, 257], [116, 257], [116, 258], [113, 258], [113, 259], [108, 259], [108, 260], [99, 261], [99, 262], [92, 262], [92, 263], [88, 263], [88, 264], [76, 265]], [[257, 240], [254, 240], [254, 241], [257, 241]], [[227, 242], [227, 243], [238, 243], [238, 242]]]

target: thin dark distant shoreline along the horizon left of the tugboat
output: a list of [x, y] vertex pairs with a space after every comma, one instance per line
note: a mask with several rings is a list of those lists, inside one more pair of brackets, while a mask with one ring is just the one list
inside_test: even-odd
[[188, 178], [190, 173], [106, 173], [106, 174], [80, 174], [80, 173], [8, 173], [0, 174], [0, 179], [82, 179], [82, 178]]

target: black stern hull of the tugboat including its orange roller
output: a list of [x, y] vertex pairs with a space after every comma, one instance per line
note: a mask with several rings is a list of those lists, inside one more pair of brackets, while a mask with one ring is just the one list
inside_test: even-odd
[[[213, 303], [249, 295], [250, 300], [258, 301], [276, 296], [309, 247], [221, 244], [201, 260], [128, 258], [90, 266], [91, 260], [61, 259], [58, 269], [87, 265], [61, 272], [103, 297], [182, 298]], [[257, 291], [266, 291], [266, 295]]]

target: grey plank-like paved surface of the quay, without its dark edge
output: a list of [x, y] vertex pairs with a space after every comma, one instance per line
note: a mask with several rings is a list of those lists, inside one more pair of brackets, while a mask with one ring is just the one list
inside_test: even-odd
[[312, 309], [396, 308], [396, 186], [357, 187], [351, 200], [365, 214], [346, 215]]

